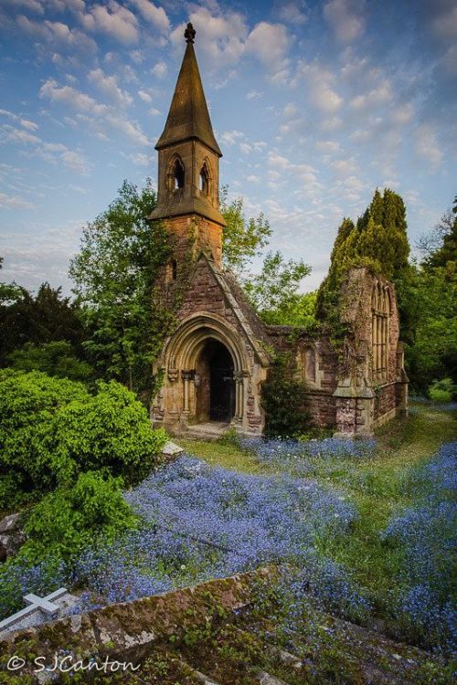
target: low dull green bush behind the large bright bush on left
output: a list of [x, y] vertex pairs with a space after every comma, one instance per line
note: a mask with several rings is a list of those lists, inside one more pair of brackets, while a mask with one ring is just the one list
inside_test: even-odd
[[71, 381], [88, 382], [94, 374], [90, 364], [78, 359], [70, 342], [65, 340], [41, 345], [27, 342], [21, 350], [8, 354], [7, 359], [8, 364], [15, 369], [42, 371]]

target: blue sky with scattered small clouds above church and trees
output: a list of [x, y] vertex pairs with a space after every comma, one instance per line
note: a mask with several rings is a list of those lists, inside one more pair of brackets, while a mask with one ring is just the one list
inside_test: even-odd
[[452, 204], [455, 0], [2, 0], [2, 280], [69, 292], [80, 227], [124, 178], [155, 180], [189, 19], [221, 183], [313, 267], [303, 290], [377, 186], [403, 196], [412, 244]]

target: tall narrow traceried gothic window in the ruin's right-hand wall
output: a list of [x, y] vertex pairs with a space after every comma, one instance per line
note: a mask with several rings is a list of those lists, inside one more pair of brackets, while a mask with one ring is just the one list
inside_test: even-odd
[[388, 382], [388, 318], [390, 300], [388, 288], [377, 283], [371, 298], [371, 352], [373, 357], [373, 381]]

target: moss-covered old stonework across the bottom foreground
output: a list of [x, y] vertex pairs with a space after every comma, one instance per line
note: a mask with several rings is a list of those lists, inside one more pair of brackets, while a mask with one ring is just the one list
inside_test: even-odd
[[[0, 642], [0, 683], [120, 682], [133, 685], [423, 685], [440, 680], [443, 664], [430, 654], [379, 633], [316, 613], [311, 631], [278, 640], [269, 588], [278, 570], [214, 580], [194, 588], [106, 606], [80, 616], [30, 627]], [[310, 635], [314, 638], [310, 639]], [[20, 673], [8, 672], [13, 655]], [[34, 658], [99, 667], [83, 680], [58, 672], [37, 673]], [[69, 661], [71, 659], [71, 661]], [[431, 674], [431, 675], [430, 675]], [[80, 674], [81, 675], [81, 674]], [[20, 676], [21, 680], [15, 680]], [[431, 678], [431, 680], [430, 680]]]

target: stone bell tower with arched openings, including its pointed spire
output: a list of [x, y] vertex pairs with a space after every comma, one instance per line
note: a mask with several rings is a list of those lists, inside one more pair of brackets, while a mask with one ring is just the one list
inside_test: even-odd
[[[207, 111], [197, 58], [196, 31], [187, 24], [186, 53], [176, 81], [159, 156], [157, 206], [151, 219], [163, 219], [175, 251], [174, 269], [189, 248], [205, 252], [218, 267], [222, 259], [219, 211], [219, 158], [222, 156]], [[195, 254], [195, 256], [197, 256]]]

